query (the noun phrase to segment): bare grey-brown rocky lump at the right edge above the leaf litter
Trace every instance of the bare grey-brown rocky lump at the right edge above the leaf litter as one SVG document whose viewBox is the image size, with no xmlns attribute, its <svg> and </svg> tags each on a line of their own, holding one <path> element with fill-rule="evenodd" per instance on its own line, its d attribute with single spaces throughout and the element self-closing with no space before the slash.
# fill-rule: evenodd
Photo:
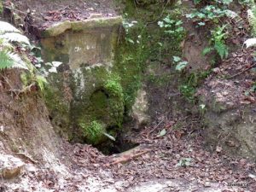
<svg viewBox="0 0 256 192">
<path fill-rule="evenodd" d="M 242 116 L 241 116 L 242 113 Z M 208 106 L 204 114 L 208 145 L 219 145 L 225 152 L 255 160 L 256 115 L 250 106 L 228 109 L 221 113 Z"/>
</svg>

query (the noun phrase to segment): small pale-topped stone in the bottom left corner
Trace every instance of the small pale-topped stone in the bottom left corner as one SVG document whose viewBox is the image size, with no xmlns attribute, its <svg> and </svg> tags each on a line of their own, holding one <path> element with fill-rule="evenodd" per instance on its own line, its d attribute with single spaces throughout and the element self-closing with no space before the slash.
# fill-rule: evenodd
<svg viewBox="0 0 256 192">
<path fill-rule="evenodd" d="M 12 155 L 0 155 L 0 174 L 3 178 L 10 179 L 18 177 L 24 166 L 25 163 Z"/>
</svg>

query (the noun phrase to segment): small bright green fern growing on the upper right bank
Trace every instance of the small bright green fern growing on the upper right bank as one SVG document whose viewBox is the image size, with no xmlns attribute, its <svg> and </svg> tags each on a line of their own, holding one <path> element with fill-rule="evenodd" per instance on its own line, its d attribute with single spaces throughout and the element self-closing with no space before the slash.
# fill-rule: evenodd
<svg viewBox="0 0 256 192">
<path fill-rule="evenodd" d="M 211 31 L 212 38 L 210 40 L 211 47 L 207 47 L 203 50 L 203 55 L 207 55 L 212 50 L 215 50 L 221 59 L 225 59 L 229 55 L 229 50 L 225 44 L 225 39 L 228 38 L 228 33 L 225 32 L 226 26 L 218 26 Z"/>
</svg>

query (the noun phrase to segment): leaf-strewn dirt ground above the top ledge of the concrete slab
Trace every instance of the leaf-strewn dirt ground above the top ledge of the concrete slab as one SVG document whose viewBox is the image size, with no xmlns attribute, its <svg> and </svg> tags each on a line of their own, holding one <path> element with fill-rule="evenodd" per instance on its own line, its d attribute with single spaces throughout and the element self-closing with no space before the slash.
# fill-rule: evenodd
<svg viewBox="0 0 256 192">
<path fill-rule="evenodd" d="M 13 0 L 5 3 L 5 7 L 16 12 L 21 20 L 38 28 L 63 20 L 86 20 L 101 15 L 112 17 L 116 15 L 114 6 L 110 0 L 55 0 L 47 3 L 44 0 Z"/>
</svg>

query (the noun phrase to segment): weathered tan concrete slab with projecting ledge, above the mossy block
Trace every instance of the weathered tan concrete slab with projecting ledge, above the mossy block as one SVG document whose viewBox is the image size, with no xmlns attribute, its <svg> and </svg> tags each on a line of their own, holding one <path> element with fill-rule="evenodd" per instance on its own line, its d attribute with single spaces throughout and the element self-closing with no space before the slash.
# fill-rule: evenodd
<svg viewBox="0 0 256 192">
<path fill-rule="evenodd" d="M 62 61 L 71 69 L 80 65 L 109 64 L 122 17 L 63 21 L 50 26 L 41 39 L 46 61 Z"/>
</svg>

